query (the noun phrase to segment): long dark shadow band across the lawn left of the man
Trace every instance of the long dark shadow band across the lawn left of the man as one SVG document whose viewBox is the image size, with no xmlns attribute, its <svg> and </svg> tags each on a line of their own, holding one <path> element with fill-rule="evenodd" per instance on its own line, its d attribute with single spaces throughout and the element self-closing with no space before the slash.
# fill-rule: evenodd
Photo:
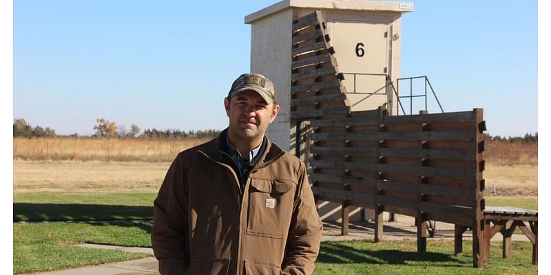
<svg viewBox="0 0 551 275">
<path fill-rule="evenodd" d="M 150 221 L 152 206 L 13 203 L 13 221 Z"/>
</svg>

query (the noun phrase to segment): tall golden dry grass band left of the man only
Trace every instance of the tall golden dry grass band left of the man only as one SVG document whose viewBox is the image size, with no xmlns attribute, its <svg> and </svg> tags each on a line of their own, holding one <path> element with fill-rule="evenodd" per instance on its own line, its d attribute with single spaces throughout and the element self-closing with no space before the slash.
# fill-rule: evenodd
<svg viewBox="0 0 551 275">
<path fill-rule="evenodd" d="M 186 148 L 208 139 L 14 137 L 13 158 L 114 162 L 171 162 Z"/>
</svg>

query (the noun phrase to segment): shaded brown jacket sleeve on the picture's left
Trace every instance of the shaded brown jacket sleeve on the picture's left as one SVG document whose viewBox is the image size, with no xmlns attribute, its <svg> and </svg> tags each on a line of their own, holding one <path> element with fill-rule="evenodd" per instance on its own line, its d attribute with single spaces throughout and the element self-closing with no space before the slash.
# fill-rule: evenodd
<svg viewBox="0 0 551 275">
<path fill-rule="evenodd" d="M 153 207 L 152 248 L 160 274 L 185 274 L 189 266 L 187 186 L 180 155 L 174 159 Z"/>
</svg>

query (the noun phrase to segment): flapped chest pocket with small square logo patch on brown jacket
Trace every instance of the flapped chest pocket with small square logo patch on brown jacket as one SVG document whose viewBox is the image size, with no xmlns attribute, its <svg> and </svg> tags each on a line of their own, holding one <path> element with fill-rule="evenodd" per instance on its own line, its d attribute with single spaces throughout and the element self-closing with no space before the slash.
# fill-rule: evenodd
<svg viewBox="0 0 551 275">
<path fill-rule="evenodd" d="M 287 239 L 295 188 L 293 181 L 251 179 L 247 234 Z"/>
</svg>

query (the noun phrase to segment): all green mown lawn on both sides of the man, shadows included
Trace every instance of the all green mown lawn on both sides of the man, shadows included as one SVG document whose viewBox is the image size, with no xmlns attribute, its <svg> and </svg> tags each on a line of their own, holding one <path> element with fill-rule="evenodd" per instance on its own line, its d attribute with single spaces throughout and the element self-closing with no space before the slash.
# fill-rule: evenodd
<svg viewBox="0 0 551 275">
<path fill-rule="evenodd" d="M 57 221 L 14 223 L 14 272 L 60 270 L 149 256 L 70 245 L 150 247 L 152 223 L 128 220 L 151 220 L 155 197 L 154 193 L 14 194 L 14 221 Z M 486 203 L 537 210 L 537 198 L 490 197 Z M 490 264 L 484 271 L 472 268 L 471 245 L 464 241 L 464 257 L 456 258 L 453 241 L 447 240 L 428 239 L 426 253 L 416 252 L 415 241 L 322 243 L 315 274 L 537 274 L 537 266 L 531 265 L 530 243 L 514 242 L 511 260 L 501 259 L 501 243 L 492 243 Z"/>
</svg>

